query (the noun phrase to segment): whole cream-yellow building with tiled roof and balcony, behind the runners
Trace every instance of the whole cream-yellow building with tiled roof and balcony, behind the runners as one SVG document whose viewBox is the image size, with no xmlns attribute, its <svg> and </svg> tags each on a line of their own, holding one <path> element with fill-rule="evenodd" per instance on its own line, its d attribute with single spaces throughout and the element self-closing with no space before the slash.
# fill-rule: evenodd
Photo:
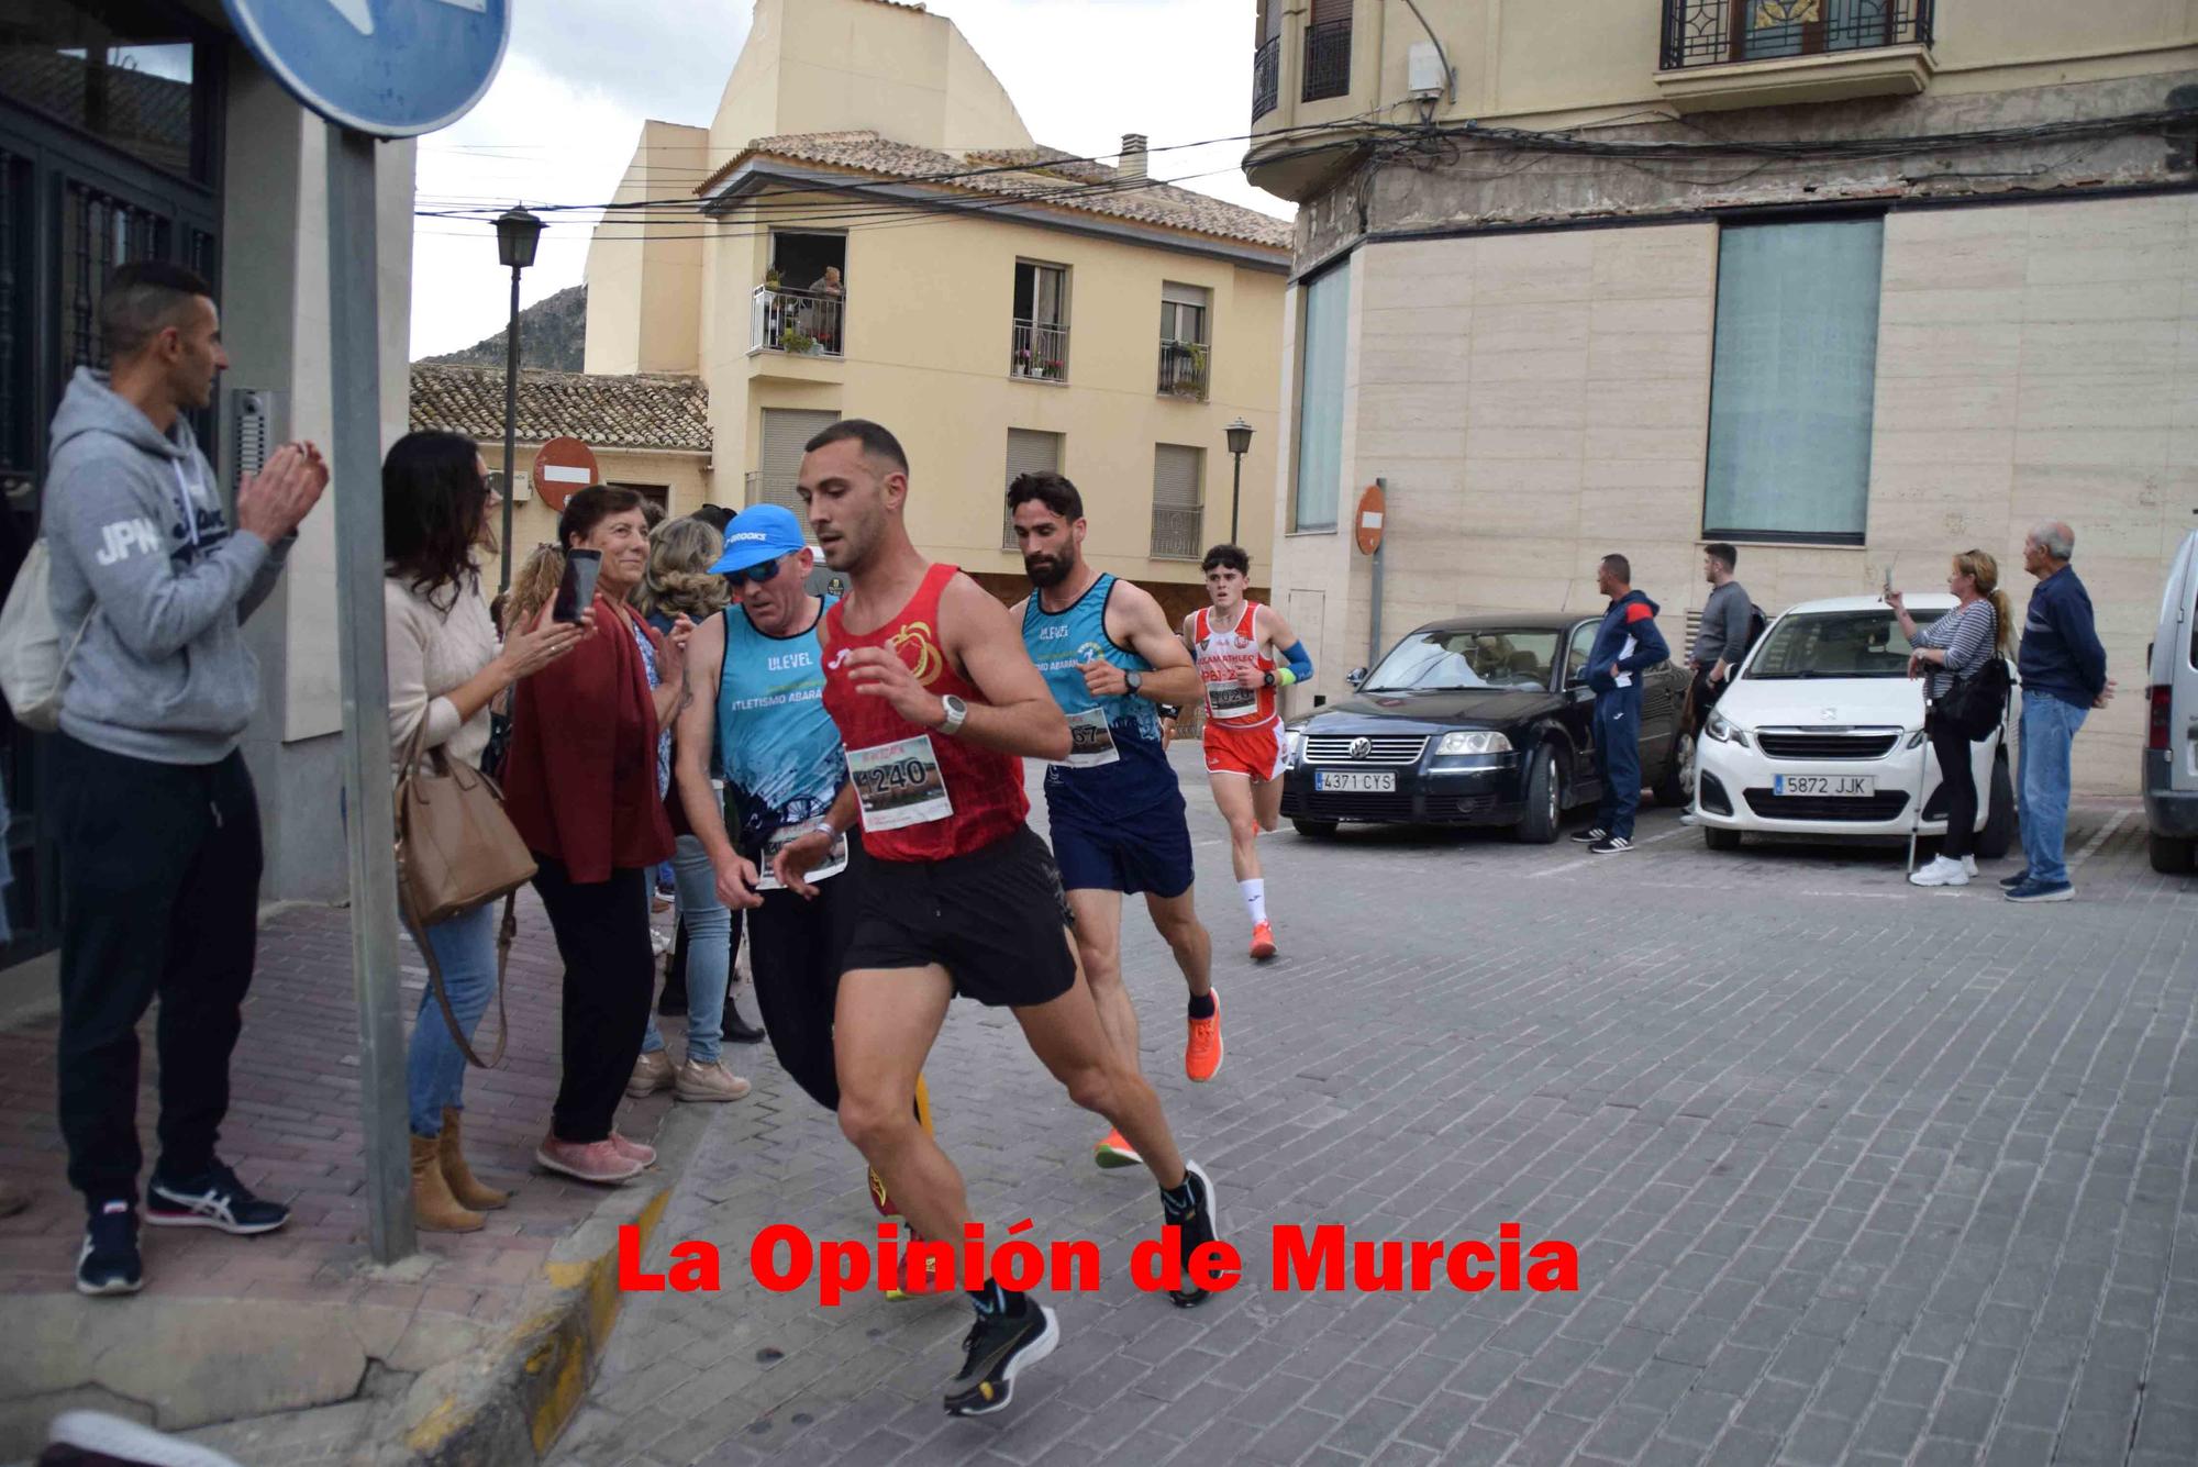
<svg viewBox="0 0 2198 1467">
<path fill-rule="evenodd" d="M 717 119 L 648 123 L 615 200 L 587 371 L 699 378 L 719 503 L 798 507 L 802 444 L 875 417 L 928 556 L 1020 597 L 1002 492 L 1057 468 L 1090 558 L 1183 608 L 1231 534 L 1242 417 L 1266 580 L 1290 226 L 1150 178 L 1139 136 L 1117 163 L 1037 145 L 950 20 L 758 0 Z"/>
</svg>

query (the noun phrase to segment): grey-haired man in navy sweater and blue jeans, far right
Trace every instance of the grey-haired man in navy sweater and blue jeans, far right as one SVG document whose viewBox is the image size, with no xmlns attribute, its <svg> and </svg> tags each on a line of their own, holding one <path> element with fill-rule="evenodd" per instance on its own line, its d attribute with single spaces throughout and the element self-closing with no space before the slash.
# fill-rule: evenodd
<svg viewBox="0 0 2198 1467">
<path fill-rule="evenodd" d="M 2062 837 L 2068 832 L 2068 747 L 2084 716 L 2106 707 L 2114 685 L 2092 626 L 2090 593 L 2068 569 L 2075 531 L 2040 525 L 2022 542 L 2022 569 L 2038 578 L 2022 617 L 2022 854 L 2027 867 L 2005 878 L 2011 903 L 2064 903 L 2075 896 Z"/>
</svg>

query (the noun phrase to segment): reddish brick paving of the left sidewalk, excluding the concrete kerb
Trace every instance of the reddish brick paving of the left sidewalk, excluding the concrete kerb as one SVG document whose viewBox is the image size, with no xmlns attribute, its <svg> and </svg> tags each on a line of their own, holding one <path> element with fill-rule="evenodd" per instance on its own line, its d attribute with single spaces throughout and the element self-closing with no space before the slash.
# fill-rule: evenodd
<svg viewBox="0 0 2198 1467">
<path fill-rule="evenodd" d="M 352 990 L 349 918 L 292 907 L 262 927 L 259 962 L 244 1004 L 222 1157 L 246 1186 L 292 1203 L 281 1232 L 233 1239 L 207 1228 L 147 1228 L 145 1291 L 92 1309 L 149 1309 L 163 1298 L 281 1298 L 328 1304 L 393 1304 L 501 1322 L 539 1276 L 552 1245 L 593 1212 L 600 1188 L 532 1171 L 558 1083 L 558 975 L 550 922 L 521 898 L 521 938 L 510 964 L 512 1041 L 495 1072 L 466 1076 L 466 1146 L 512 1206 L 473 1234 L 420 1234 L 435 1263 L 415 1283 L 374 1278 L 367 1263 L 365 1166 L 358 1113 L 358 1008 Z M 404 942 L 407 1028 L 426 968 Z M 440 1023 L 437 1015 L 429 1017 Z M 679 1021 L 668 1041 L 679 1050 Z M 495 1015 L 484 1021 L 490 1041 Z M 84 1203 L 64 1177 L 55 1124 L 53 1021 L 0 1032 L 0 1177 L 33 1206 L 0 1219 L 0 1296 L 70 1294 Z M 138 1133 L 147 1175 L 158 1142 L 158 1067 L 152 1015 L 141 1026 Z M 734 1050 L 734 1063 L 741 1052 Z M 655 1133 L 668 1096 L 629 1100 L 620 1127 Z M 145 1177 L 141 1177 L 143 1186 Z"/>
</svg>

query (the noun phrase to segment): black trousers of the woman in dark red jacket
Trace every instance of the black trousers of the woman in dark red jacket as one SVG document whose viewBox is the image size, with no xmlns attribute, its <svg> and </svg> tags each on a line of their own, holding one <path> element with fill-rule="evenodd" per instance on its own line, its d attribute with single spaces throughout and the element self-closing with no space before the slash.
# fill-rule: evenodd
<svg viewBox="0 0 2198 1467">
<path fill-rule="evenodd" d="M 565 1078 L 550 1111 L 560 1142 L 611 1135 L 618 1100 L 648 1032 L 657 955 L 648 947 L 655 867 L 618 865 L 609 881 L 576 883 L 556 856 L 534 852 L 534 889 L 565 960 Z"/>
</svg>

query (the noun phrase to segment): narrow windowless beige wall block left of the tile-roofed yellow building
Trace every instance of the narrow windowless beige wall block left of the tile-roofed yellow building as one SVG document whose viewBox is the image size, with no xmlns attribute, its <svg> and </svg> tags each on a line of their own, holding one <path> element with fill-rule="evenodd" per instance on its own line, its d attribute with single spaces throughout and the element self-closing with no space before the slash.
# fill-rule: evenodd
<svg viewBox="0 0 2198 1467">
<path fill-rule="evenodd" d="M 710 158 L 710 130 L 642 123 L 613 204 L 684 200 Z M 701 231 L 681 206 L 611 213 L 587 246 L 585 371 L 697 369 Z"/>
</svg>

